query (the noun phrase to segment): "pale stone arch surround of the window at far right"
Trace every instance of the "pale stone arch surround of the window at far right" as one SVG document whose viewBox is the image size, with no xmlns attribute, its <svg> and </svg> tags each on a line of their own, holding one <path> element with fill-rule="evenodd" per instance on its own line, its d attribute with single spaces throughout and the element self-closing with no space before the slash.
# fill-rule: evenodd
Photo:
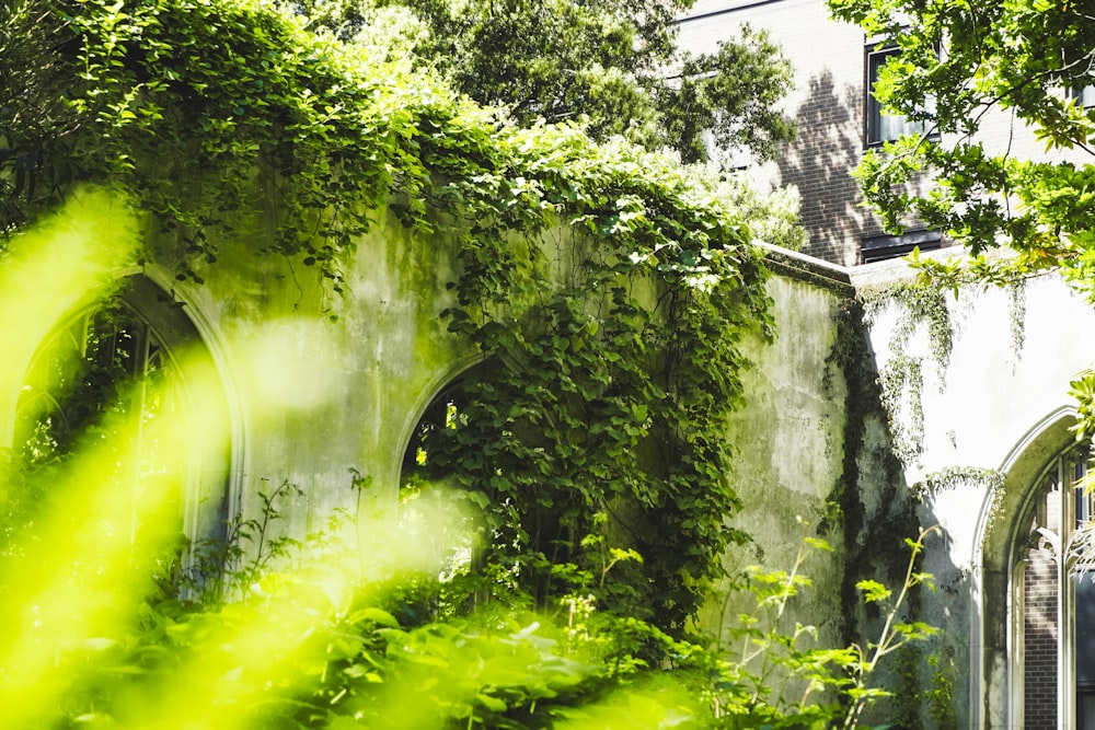
<svg viewBox="0 0 1095 730">
<path fill-rule="evenodd" d="M 975 727 L 1003 728 L 1025 723 L 1026 642 L 1031 636 L 1025 621 L 1028 603 L 1033 600 L 1027 593 L 1034 586 L 1027 569 L 1044 571 L 1049 565 L 1045 559 L 1031 559 L 1035 552 L 1051 549 L 1046 542 L 1049 538 L 1035 529 L 1045 521 L 1040 512 L 1046 509 L 1047 473 L 1058 467 L 1063 454 L 1075 447 L 1070 430 L 1074 424 L 1074 408 L 1062 406 L 1031 428 L 1001 464 L 1004 475 L 1001 493 L 987 495 L 981 509 L 975 560 L 980 581 L 972 596 L 973 617 L 978 624 L 973 637 L 980 639 L 979 651 L 973 652 L 978 664 L 973 668 L 973 677 L 980 687 L 973 687 L 972 696 L 980 697 L 981 717 L 975 720 Z M 1065 505 L 1070 498 L 1063 495 L 1061 503 Z M 1057 519 L 1068 525 L 1070 515 L 1065 507 Z M 1057 630 L 1053 641 L 1058 647 L 1053 657 L 1058 667 L 1054 677 L 1062 672 L 1072 675 L 1069 667 L 1074 625 L 1070 582 L 1058 584 L 1064 587 L 1063 594 L 1054 593 L 1050 599 L 1059 609 L 1053 616 Z M 1054 711 L 1058 718 L 1052 720 L 1052 727 L 1073 727 L 1074 698 L 1069 683 L 1060 683 L 1057 694 Z M 1058 726 L 1058 721 L 1065 725 Z"/>
</svg>

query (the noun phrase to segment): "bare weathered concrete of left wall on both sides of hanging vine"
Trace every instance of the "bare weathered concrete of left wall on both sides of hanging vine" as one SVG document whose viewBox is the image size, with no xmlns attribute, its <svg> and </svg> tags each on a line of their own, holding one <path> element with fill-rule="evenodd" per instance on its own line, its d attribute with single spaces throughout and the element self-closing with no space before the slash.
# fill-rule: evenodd
<svg viewBox="0 0 1095 730">
<path fill-rule="evenodd" d="M 346 266 L 344 298 L 299 262 L 223 250 L 199 270 L 203 285 L 174 283 L 168 268 L 148 273 L 186 302 L 217 361 L 232 404 L 231 488 L 242 515 L 258 517 L 258 490 L 283 480 L 304 494 L 284 525 L 298 536 L 335 509 L 359 514 L 378 500 L 390 503 L 423 409 L 479 361 L 440 315 L 456 278 L 443 234 L 427 240 L 382 220 Z M 892 511 L 895 489 L 907 500 L 907 487 L 887 472 L 891 449 L 877 397 L 848 382 L 864 373 L 873 382 L 876 372 L 865 331 L 848 313 L 855 293 L 848 270 L 789 253 L 770 262 L 775 339 L 748 345 L 754 367 L 745 374 L 747 406 L 728 430 L 744 503 L 733 519 L 754 542 L 728 555 L 726 567 L 731 575 L 749 564 L 789 569 L 803 537 L 821 534 L 835 551 L 807 558 L 802 571 L 814 586 L 787 619 L 818 626 L 819 646 L 839 646 L 857 630 L 844 601 L 849 566 L 861 571 L 854 578 L 865 577 L 874 520 Z M 849 316 L 854 322 L 842 325 Z M 857 368 L 841 361 L 850 347 L 843 357 L 858 358 Z M 875 399 L 856 406 L 864 397 Z M 850 424 L 850 415 L 862 422 Z M 360 494 L 350 468 L 367 480 Z M 900 544 L 912 533 L 890 537 Z M 742 596 L 716 590 L 702 623 L 725 638 L 744 609 Z"/>
</svg>

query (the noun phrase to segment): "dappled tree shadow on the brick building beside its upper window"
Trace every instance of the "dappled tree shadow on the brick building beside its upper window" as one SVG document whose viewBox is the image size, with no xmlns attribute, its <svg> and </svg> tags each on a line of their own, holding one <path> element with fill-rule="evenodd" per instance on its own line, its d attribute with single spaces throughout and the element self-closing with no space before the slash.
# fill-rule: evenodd
<svg viewBox="0 0 1095 730">
<path fill-rule="evenodd" d="M 783 185 L 802 194 L 802 223 L 809 240 L 804 253 L 837 264 L 857 263 L 864 211 L 852 170 L 863 151 L 860 91 L 845 84 L 838 94 L 832 73 L 810 79 L 810 93 L 795 114 L 798 137 L 779 160 Z"/>
</svg>

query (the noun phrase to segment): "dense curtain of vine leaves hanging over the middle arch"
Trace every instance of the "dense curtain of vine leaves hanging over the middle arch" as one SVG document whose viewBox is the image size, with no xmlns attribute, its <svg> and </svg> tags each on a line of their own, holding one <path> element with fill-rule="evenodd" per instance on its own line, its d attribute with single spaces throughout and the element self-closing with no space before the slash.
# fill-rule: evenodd
<svg viewBox="0 0 1095 730">
<path fill-rule="evenodd" d="M 745 537 L 725 519 L 739 505 L 725 426 L 742 399 L 737 347 L 766 331 L 766 296 L 739 228 L 715 209 L 680 227 L 666 213 L 688 188 L 642 190 L 627 173 L 657 160 L 613 153 L 586 179 L 539 164 L 526 195 L 562 211 L 541 223 L 548 246 L 468 216 L 447 315 L 492 360 L 454 428 L 429 431 L 426 471 L 485 496 L 492 561 L 537 595 L 567 588 L 561 563 L 597 572 L 584 545 L 598 535 L 644 557 L 595 587 L 604 605 L 680 630 Z"/>
</svg>

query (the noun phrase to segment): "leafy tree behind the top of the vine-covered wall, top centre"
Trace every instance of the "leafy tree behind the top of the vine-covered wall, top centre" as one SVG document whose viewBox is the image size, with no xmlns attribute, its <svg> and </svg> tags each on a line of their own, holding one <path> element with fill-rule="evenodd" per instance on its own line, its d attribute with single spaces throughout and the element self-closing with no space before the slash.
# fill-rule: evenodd
<svg viewBox="0 0 1095 730">
<path fill-rule="evenodd" d="M 367 46 L 395 42 L 462 93 L 525 126 L 583 119 L 597 139 L 624 135 L 706 160 L 704 134 L 760 158 L 794 135 L 775 103 L 791 67 L 745 28 L 715 54 L 677 48 L 673 20 L 694 0 L 308 0 L 313 26 Z M 394 31 L 394 33 L 393 33 Z M 387 45 L 387 44 L 385 44 Z"/>
</svg>

